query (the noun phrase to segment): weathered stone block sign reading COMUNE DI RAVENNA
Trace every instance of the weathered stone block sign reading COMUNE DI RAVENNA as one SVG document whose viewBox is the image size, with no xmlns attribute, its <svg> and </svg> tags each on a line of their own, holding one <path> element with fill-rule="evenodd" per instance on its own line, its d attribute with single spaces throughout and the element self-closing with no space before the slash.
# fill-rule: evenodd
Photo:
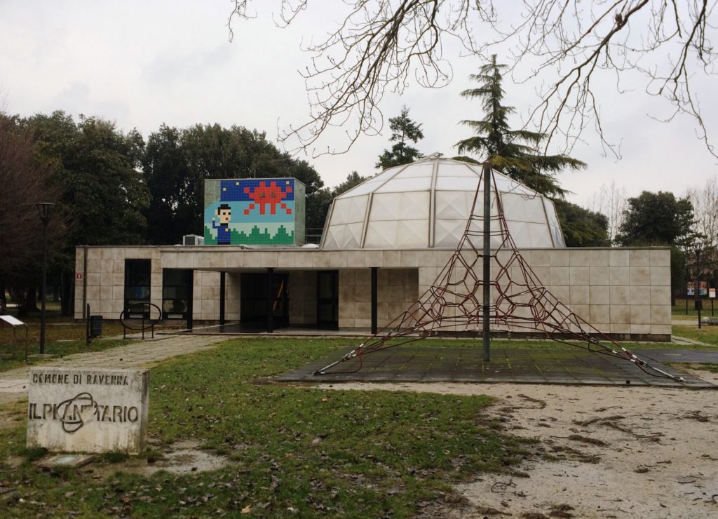
<svg viewBox="0 0 718 519">
<path fill-rule="evenodd" d="M 147 370 L 30 369 L 27 446 L 54 452 L 144 450 Z"/>
</svg>

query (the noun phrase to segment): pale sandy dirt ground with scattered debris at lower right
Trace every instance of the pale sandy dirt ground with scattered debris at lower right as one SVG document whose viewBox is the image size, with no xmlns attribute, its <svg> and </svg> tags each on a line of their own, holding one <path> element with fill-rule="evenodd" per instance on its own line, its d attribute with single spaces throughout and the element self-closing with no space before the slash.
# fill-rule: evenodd
<svg viewBox="0 0 718 519">
<path fill-rule="evenodd" d="M 718 383 L 717 374 L 695 375 Z M 482 474 L 477 482 L 457 487 L 470 505 L 450 505 L 432 515 L 718 516 L 716 390 L 446 383 L 334 388 L 494 396 L 497 403 L 490 410 L 507 431 L 539 439 L 552 458 L 528 460 L 513 475 Z"/>
</svg>

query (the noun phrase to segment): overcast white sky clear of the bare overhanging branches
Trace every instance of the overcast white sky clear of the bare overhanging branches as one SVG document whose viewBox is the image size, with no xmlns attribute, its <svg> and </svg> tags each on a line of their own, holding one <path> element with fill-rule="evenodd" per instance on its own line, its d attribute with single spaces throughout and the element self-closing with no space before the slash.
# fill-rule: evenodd
<svg viewBox="0 0 718 519">
<path fill-rule="evenodd" d="M 324 34 L 337 16 L 327 11 L 329 2 L 314 2 L 314 10 L 289 29 L 278 29 L 269 9 L 277 3 L 256 2 L 266 11 L 237 21 L 230 43 L 227 0 L 0 0 L 0 107 L 22 116 L 54 110 L 102 116 L 125 131 L 138 128 L 145 137 L 162 123 L 216 122 L 266 131 L 275 140 L 278 128 L 307 119 L 304 80 L 297 73 L 309 64 L 299 49 L 302 37 Z M 401 97 L 388 95 L 381 108 L 391 117 L 406 104 L 411 118 L 424 125 L 425 138 L 417 147 L 424 154 L 453 156 L 452 146 L 470 136 L 458 121 L 481 116 L 477 102 L 459 95 L 472 87 L 467 76 L 480 64 L 476 57 L 455 57 L 449 86 L 411 85 Z M 699 95 L 718 142 L 718 103 L 709 85 L 704 81 Z M 506 103 L 520 113 L 535 102 L 525 88 L 508 82 L 504 87 Z M 661 116 L 670 109 L 643 88 L 637 84 L 635 91 L 618 94 L 612 83 L 597 85 L 605 134 L 620 141 L 623 159 L 603 157 L 597 136 L 585 133 L 585 143 L 572 155 L 587 162 L 588 170 L 560 177 L 561 185 L 575 193 L 569 200 L 587 205 L 602 184 L 612 181 L 628 195 L 642 190 L 683 195 L 686 187 L 718 172 L 716 159 L 696 139 L 694 121 L 653 121 L 648 113 Z M 333 186 L 353 170 L 376 173 L 374 164 L 389 145 L 388 134 L 386 128 L 383 136 L 361 137 L 340 156 L 302 158 Z M 337 135 L 321 144 L 344 145 Z"/>
</svg>

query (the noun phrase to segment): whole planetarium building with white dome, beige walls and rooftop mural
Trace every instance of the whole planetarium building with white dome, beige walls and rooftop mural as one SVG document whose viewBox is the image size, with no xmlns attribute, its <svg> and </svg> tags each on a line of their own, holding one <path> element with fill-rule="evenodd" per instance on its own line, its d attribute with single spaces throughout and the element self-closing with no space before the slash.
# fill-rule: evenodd
<svg viewBox="0 0 718 519">
<path fill-rule="evenodd" d="M 441 156 L 387 169 L 333 201 L 318 248 L 304 245 L 296 179 L 205 181 L 203 240 L 77 248 L 75 317 L 151 303 L 194 329 L 381 329 L 434 284 L 472 208 L 482 214 L 481 172 Z M 556 298 L 615 337 L 670 338 L 668 248 L 566 248 L 551 200 L 493 178 L 491 214 Z"/>
</svg>

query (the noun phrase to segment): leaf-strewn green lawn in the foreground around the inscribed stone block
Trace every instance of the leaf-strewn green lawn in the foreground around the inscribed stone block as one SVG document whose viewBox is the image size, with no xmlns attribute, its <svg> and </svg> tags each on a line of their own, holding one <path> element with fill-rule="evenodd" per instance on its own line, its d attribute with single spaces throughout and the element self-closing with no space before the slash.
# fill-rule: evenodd
<svg viewBox="0 0 718 519">
<path fill-rule="evenodd" d="M 25 406 L 14 406 L 17 426 L 0 429 L 0 491 L 17 490 L 2 502 L 4 514 L 407 517 L 450 495 L 453 482 L 510 470 L 528 449 L 502 432 L 488 397 L 269 380 L 346 344 L 240 339 L 153 368 L 149 436 L 192 439 L 230 459 L 214 472 L 44 472 L 30 461 L 41 453 L 24 448 Z"/>
</svg>

